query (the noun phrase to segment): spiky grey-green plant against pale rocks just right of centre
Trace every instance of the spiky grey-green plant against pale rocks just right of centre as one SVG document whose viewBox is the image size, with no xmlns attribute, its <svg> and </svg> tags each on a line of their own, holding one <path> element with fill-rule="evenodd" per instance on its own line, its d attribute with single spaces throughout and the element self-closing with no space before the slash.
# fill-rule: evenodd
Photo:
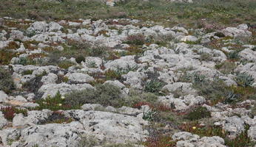
<svg viewBox="0 0 256 147">
<path fill-rule="evenodd" d="M 159 93 L 161 88 L 166 85 L 165 82 L 162 82 L 158 79 L 150 80 L 149 82 L 146 82 L 145 84 L 145 91 L 149 93 Z"/>
</svg>

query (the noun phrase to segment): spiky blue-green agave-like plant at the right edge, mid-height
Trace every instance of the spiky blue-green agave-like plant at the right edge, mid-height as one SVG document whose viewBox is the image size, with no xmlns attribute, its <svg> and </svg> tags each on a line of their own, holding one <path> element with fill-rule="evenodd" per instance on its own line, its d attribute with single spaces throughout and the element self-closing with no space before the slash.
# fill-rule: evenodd
<svg viewBox="0 0 256 147">
<path fill-rule="evenodd" d="M 250 87 L 252 86 L 255 79 L 252 77 L 252 75 L 249 75 L 248 73 L 243 72 L 243 73 L 238 73 L 238 75 L 235 78 L 235 81 L 240 86 Z"/>
</svg>

